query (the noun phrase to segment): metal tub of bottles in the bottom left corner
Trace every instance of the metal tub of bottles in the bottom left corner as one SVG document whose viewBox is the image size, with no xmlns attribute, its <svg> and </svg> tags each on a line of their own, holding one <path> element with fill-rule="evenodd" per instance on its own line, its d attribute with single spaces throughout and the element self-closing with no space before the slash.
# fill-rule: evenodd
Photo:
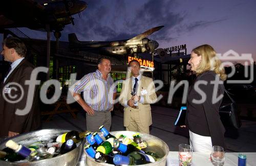
<svg viewBox="0 0 256 166">
<path fill-rule="evenodd" d="M 60 130 L 60 129 L 44 129 L 44 130 L 37 130 L 37 131 L 31 131 L 24 134 L 19 134 L 15 137 L 12 137 L 11 140 L 19 143 L 24 140 L 30 140 L 33 138 L 38 138 L 37 140 L 49 140 L 50 138 L 60 135 L 62 133 L 69 132 L 69 130 Z M 7 140 L 8 141 L 8 140 Z M 6 148 L 5 143 L 7 141 L 4 141 L 0 144 L 0 149 Z M 77 148 L 73 149 L 72 151 L 62 154 L 53 158 L 39 160 L 39 161 L 32 161 L 32 162 L 25 162 L 25 163 L 18 163 L 18 162 L 7 162 L 0 160 L 0 165 L 37 165 L 37 166 L 52 166 L 52 165 L 71 165 L 74 166 L 77 164 L 77 161 L 80 157 L 82 150 L 82 142 L 77 144 Z"/>
</svg>

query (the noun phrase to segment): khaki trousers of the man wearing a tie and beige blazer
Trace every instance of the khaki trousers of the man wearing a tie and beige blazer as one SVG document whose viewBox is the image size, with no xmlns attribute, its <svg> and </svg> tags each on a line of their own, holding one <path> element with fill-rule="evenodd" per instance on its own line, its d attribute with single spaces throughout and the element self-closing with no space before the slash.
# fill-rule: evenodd
<svg viewBox="0 0 256 166">
<path fill-rule="evenodd" d="M 131 108 L 131 118 L 127 131 L 144 132 L 150 134 L 150 126 L 143 127 L 140 121 L 139 109 Z"/>
</svg>

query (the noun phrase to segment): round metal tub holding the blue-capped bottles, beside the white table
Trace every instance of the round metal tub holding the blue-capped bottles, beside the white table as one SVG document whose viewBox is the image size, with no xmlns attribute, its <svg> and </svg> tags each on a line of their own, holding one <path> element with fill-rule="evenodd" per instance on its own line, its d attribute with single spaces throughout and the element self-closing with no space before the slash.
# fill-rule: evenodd
<svg viewBox="0 0 256 166">
<path fill-rule="evenodd" d="M 112 135 L 116 135 L 117 133 L 122 133 L 126 136 L 130 136 L 137 133 L 134 131 L 112 131 L 110 132 Z M 139 132 L 140 133 L 140 132 Z M 100 134 L 100 136 L 102 136 L 102 134 Z M 162 157 L 160 160 L 156 161 L 156 162 L 152 162 L 152 163 L 148 163 L 148 164 L 143 164 L 143 165 L 158 165 L 158 166 L 165 166 L 166 163 L 166 157 L 169 153 L 169 148 L 167 146 L 167 144 L 162 141 L 161 139 L 159 139 L 156 136 L 150 135 L 150 134 L 146 134 L 146 133 L 140 133 L 140 136 L 142 137 L 142 139 L 144 141 L 146 141 L 147 145 L 148 145 L 148 150 L 152 151 L 152 152 L 156 152 L 160 157 Z M 103 139 L 103 138 L 102 138 Z M 105 140 L 105 139 L 104 139 Z M 95 161 L 92 157 L 88 156 L 87 152 L 83 151 L 86 154 L 86 165 L 88 166 L 97 166 L 97 165 L 113 165 L 113 164 L 108 164 L 108 163 L 102 163 L 102 162 L 97 162 Z"/>
</svg>

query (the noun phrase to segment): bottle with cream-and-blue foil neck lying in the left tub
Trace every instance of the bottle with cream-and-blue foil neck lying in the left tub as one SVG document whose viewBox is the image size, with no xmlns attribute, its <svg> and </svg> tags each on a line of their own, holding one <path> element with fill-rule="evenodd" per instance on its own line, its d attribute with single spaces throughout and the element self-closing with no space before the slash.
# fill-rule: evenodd
<svg viewBox="0 0 256 166">
<path fill-rule="evenodd" d="M 52 157 L 46 149 L 39 148 L 36 151 L 31 151 L 30 149 L 26 148 L 25 146 L 18 145 L 12 140 L 9 140 L 6 145 L 8 148 L 13 149 L 16 153 L 22 155 L 23 157 L 27 158 L 29 161 L 34 160 L 42 160 Z"/>
</svg>

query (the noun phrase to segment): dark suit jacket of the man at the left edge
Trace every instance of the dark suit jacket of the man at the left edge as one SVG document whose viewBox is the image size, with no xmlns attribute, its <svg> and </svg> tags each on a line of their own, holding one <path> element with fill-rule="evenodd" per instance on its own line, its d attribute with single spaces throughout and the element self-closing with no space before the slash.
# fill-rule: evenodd
<svg viewBox="0 0 256 166">
<path fill-rule="evenodd" d="M 26 80 L 30 80 L 30 75 L 34 66 L 30 64 L 27 60 L 23 60 L 18 64 L 18 66 L 12 71 L 12 73 L 8 76 L 5 83 L 2 82 L 0 85 L 0 122 L 1 122 L 1 130 L 0 137 L 8 136 L 8 131 L 23 133 L 31 130 L 35 130 L 40 126 L 40 111 L 38 106 L 38 88 L 35 87 L 34 95 L 29 98 L 29 101 L 32 101 L 32 107 L 28 111 L 28 114 L 20 116 L 16 115 L 15 111 L 18 109 L 23 110 L 27 104 L 27 98 L 29 93 L 29 86 L 25 85 Z M 6 101 L 3 97 L 3 90 L 7 88 L 7 84 L 13 82 L 23 87 L 24 96 L 20 101 L 16 103 L 10 103 Z M 15 85 L 10 85 L 9 88 L 15 87 Z M 20 88 L 16 87 L 16 90 L 11 91 L 11 96 L 15 96 L 19 98 L 22 94 Z M 5 94 L 6 98 L 9 100 L 13 100 Z"/>
</svg>

